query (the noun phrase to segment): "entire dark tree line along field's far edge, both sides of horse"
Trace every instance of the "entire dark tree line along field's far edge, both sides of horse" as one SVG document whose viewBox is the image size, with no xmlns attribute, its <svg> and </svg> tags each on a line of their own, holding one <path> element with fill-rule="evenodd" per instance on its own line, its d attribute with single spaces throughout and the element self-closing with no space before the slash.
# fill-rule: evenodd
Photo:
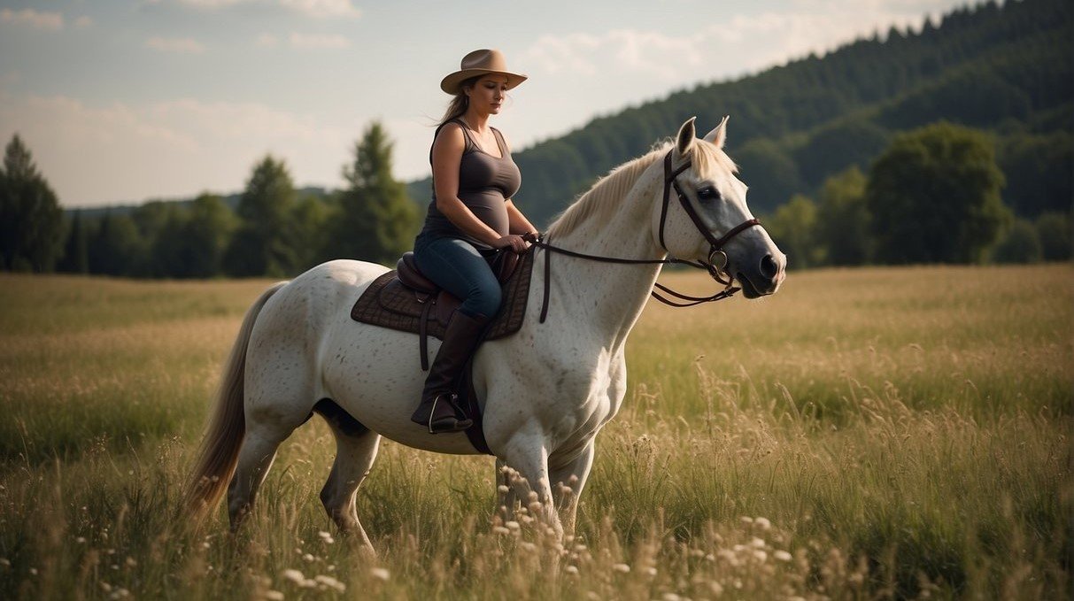
<svg viewBox="0 0 1074 601">
<path fill-rule="evenodd" d="M 1063 261 L 1069 211 L 1016 217 L 987 133 L 937 122 L 897 134 L 862 172 L 852 165 L 814 196 L 761 216 L 795 268 Z M 2 267 L 129 277 L 290 277 L 338 258 L 384 264 L 408 250 L 419 210 L 392 175 L 391 142 L 373 123 L 345 165 L 347 188 L 295 191 L 282 161 L 252 168 L 235 208 L 215 194 L 151 202 L 64 222 L 56 194 L 16 135 L 0 172 Z"/>
</svg>

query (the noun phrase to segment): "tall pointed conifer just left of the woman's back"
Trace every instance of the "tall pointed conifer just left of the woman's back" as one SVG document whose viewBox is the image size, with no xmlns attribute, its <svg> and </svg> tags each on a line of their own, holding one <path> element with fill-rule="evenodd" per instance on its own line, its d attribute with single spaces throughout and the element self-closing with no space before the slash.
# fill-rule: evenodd
<svg viewBox="0 0 1074 601">
<path fill-rule="evenodd" d="M 348 187 L 331 220 L 328 254 L 393 264 L 412 247 L 420 223 L 406 187 L 392 176 L 392 143 L 380 122 L 354 144 L 354 160 L 343 176 Z"/>
</svg>

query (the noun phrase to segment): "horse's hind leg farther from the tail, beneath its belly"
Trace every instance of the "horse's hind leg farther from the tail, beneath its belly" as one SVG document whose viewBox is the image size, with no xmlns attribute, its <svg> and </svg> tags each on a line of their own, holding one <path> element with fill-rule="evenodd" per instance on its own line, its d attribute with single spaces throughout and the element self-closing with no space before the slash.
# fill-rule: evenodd
<svg viewBox="0 0 1074 601">
<path fill-rule="evenodd" d="M 314 410 L 329 423 L 336 440 L 336 458 L 332 464 L 332 473 L 321 489 L 321 503 L 339 530 L 353 536 L 372 551 L 369 537 L 358 521 L 354 501 L 359 485 L 377 458 L 380 435 L 363 426 L 331 400 L 321 400 Z"/>
</svg>

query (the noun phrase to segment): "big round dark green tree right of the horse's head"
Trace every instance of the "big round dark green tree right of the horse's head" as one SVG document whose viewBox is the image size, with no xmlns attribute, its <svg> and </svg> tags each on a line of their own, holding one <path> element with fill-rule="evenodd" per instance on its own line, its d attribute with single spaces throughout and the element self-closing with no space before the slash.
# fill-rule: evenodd
<svg viewBox="0 0 1074 601">
<path fill-rule="evenodd" d="M 950 123 L 900 134 L 869 174 L 866 202 L 876 259 L 886 263 L 975 263 L 1010 211 L 987 136 Z"/>
</svg>

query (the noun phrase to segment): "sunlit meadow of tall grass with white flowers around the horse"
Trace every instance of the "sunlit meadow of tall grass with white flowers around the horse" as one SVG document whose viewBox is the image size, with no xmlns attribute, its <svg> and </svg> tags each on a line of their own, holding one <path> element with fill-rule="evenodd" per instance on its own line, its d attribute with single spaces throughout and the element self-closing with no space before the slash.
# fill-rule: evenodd
<svg viewBox="0 0 1074 601">
<path fill-rule="evenodd" d="M 1071 596 L 1070 265 L 794 273 L 764 300 L 651 305 L 576 539 L 494 526 L 491 459 L 386 443 L 359 493 L 377 557 L 320 508 L 318 420 L 237 537 L 222 508 L 201 531 L 177 517 L 267 283 L 0 275 L 0 598 Z"/>
</svg>

